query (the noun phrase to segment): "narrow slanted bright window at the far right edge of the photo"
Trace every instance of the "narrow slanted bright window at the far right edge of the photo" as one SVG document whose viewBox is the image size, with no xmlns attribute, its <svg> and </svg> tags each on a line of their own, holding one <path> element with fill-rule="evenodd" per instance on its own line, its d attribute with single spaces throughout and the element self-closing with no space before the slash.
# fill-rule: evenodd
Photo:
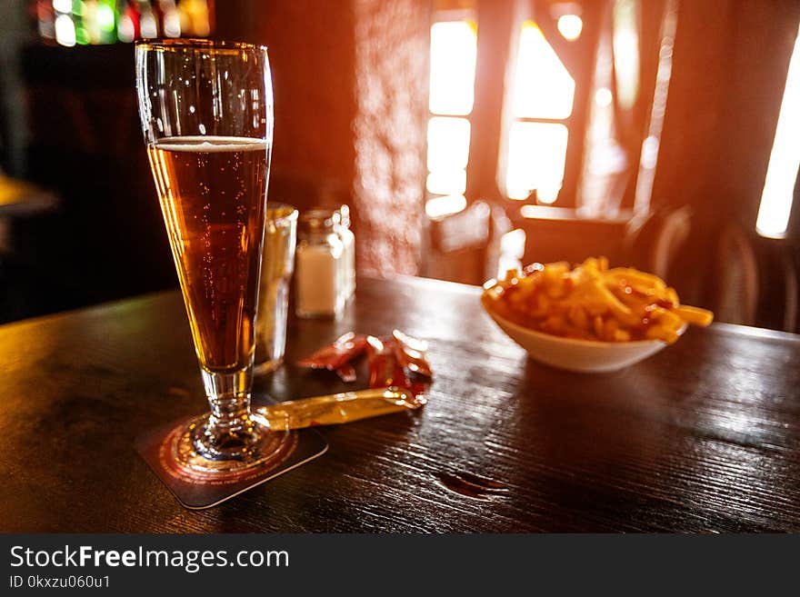
<svg viewBox="0 0 800 597">
<path fill-rule="evenodd" d="M 784 238 L 792 212 L 800 169 L 800 31 L 789 62 L 784 99 L 778 114 L 775 142 L 766 169 L 764 192 L 755 230 L 767 238 Z"/>
</svg>

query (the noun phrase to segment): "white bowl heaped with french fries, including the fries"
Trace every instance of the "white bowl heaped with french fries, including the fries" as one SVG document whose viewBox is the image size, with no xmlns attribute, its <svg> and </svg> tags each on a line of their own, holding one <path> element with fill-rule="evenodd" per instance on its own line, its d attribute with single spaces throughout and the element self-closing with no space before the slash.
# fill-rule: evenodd
<svg viewBox="0 0 800 597">
<path fill-rule="evenodd" d="M 609 268 L 591 257 L 531 264 L 484 284 L 486 313 L 531 358 L 559 369 L 611 372 L 675 343 L 687 325 L 706 326 L 714 313 L 680 303 L 654 274 Z"/>
</svg>

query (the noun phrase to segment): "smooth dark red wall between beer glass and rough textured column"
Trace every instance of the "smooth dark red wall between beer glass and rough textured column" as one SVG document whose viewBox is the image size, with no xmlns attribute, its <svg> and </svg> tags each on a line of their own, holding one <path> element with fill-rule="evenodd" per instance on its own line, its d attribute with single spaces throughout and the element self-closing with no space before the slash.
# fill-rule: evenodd
<svg viewBox="0 0 800 597">
<path fill-rule="evenodd" d="M 354 15 L 345 0 L 228 0 L 220 38 L 269 48 L 275 93 L 270 199 L 309 207 L 352 186 Z"/>
</svg>

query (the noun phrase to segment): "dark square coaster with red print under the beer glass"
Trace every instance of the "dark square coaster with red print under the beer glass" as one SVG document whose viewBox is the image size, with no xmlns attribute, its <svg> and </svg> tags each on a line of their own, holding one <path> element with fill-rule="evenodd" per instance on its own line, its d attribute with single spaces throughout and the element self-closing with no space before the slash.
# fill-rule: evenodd
<svg viewBox="0 0 800 597">
<path fill-rule="evenodd" d="M 270 432 L 275 436 L 265 463 L 244 471 L 200 472 L 175 462 L 175 451 L 179 449 L 185 426 L 194 419 L 196 417 L 170 423 L 144 433 L 135 440 L 136 452 L 145 459 L 145 463 L 178 502 L 190 510 L 203 510 L 225 502 L 314 460 L 328 449 L 322 435 L 313 430 L 275 431 Z"/>
</svg>

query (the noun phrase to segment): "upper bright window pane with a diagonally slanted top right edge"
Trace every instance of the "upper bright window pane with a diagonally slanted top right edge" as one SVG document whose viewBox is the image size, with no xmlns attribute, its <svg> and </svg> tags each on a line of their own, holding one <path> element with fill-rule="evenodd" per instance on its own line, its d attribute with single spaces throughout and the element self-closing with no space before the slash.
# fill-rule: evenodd
<svg viewBox="0 0 800 597">
<path fill-rule="evenodd" d="M 568 118 L 575 79 L 547 43 L 538 25 L 528 21 L 519 38 L 514 84 L 514 114 L 522 118 Z"/>
</svg>

